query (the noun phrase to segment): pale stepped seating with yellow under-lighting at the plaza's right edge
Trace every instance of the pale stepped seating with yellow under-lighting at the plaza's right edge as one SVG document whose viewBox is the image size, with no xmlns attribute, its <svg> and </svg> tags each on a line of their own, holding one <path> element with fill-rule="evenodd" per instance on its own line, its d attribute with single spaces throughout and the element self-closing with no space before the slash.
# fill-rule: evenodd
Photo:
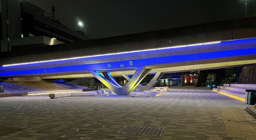
<svg viewBox="0 0 256 140">
<path fill-rule="evenodd" d="M 246 89 L 256 90 L 256 84 L 223 84 L 223 86 L 213 88 L 215 91 L 223 92 L 242 99 L 245 99 Z"/>
</svg>

